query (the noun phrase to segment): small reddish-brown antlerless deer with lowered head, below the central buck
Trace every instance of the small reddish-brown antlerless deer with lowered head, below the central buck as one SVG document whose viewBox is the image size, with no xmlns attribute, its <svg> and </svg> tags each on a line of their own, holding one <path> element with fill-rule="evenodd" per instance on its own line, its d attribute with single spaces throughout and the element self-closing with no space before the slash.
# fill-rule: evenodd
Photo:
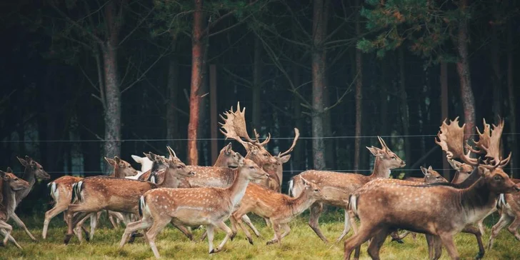
<svg viewBox="0 0 520 260">
<path fill-rule="evenodd" d="M 271 222 L 274 238 L 268 241 L 267 244 L 281 243 L 281 239 L 291 231 L 289 227 L 291 219 L 309 209 L 309 206 L 316 200 L 326 199 L 326 196 L 321 194 L 321 190 L 316 184 L 305 179 L 302 179 L 302 181 L 304 181 L 304 191 L 297 198 L 271 191 L 259 184 L 249 184 L 244 198 L 240 201 L 239 209 L 236 209 L 231 214 L 231 230 L 233 231 L 231 239 L 236 235 L 236 224 L 239 224 L 242 231 L 246 234 L 249 243 L 253 244 L 251 234 L 249 234 L 249 231 L 241 222 L 242 216 L 253 212 Z M 284 234 L 280 233 L 280 229 L 284 230 Z"/>
</svg>

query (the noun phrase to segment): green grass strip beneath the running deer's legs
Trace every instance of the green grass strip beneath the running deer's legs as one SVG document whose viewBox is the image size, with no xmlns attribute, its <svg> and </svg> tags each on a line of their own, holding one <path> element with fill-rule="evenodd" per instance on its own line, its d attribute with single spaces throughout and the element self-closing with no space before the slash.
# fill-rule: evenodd
<svg viewBox="0 0 520 260">
<path fill-rule="evenodd" d="M 0 259 L 154 259 L 154 254 L 149 245 L 144 243 L 143 238 L 137 238 L 134 244 L 127 244 L 123 250 L 119 250 L 119 240 L 124 229 L 122 227 L 111 229 L 104 219 L 101 219 L 101 227 L 96 230 L 93 241 L 79 244 L 74 237 L 68 246 L 63 244 L 66 229 L 61 215 L 51 221 L 46 240 L 41 239 L 43 219 L 40 216 L 22 217 L 22 219 L 39 241 L 31 241 L 24 231 L 15 227 L 14 238 L 24 249 L 19 250 L 13 244 L 8 244 L 0 248 Z M 307 214 L 291 222 L 291 234 L 286 236 L 281 246 L 277 244 L 266 246 L 266 241 L 273 236 L 271 228 L 266 227 L 262 219 L 254 216 L 251 216 L 251 219 L 262 234 L 262 237 L 254 238 L 254 245 L 249 244 L 244 234 L 239 233 L 234 241 L 228 241 L 224 251 L 209 255 L 207 241 L 189 241 L 180 231 L 171 226 L 161 232 L 156 244 L 163 259 L 341 259 L 343 256 L 343 242 L 338 244 L 321 242 L 307 225 Z M 488 225 L 491 226 L 491 222 L 497 220 L 497 216 L 494 216 L 494 219 L 490 217 Z M 334 241 L 341 233 L 342 221 L 342 212 L 332 211 L 322 216 L 320 226 L 324 234 Z M 489 226 L 484 244 L 488 241 Z M 194 230 L 197 239 L 201 233 L 202 230 Z M 215 246 L 223 237 L 223 232 L 216 234 Z M 397 244 L 387 239 L 381 249 L 381 258 L 428 259 L 424 236 L 417 236 L 416 241 L 409 236 L 404 241 L 405 244 Z M 474 236 L 459 234 L 456 236 L 456 245 L 461 259 L 473 259 L 476 256 L 478 249 Z M 361 251 L 361 259 L 369 259 L 366 245 Z M 449 259 L 446 251 L 443 251 L 441 259 Z M 486 251 L 484 259 L 520 259 L 520 242 L 504 229 L 496 239 L 494 249 Z"/>
</svg>

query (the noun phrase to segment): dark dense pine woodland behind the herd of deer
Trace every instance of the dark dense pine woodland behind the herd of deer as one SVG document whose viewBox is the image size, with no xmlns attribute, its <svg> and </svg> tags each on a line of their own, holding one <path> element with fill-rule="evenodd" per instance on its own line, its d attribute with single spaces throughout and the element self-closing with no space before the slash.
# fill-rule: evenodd
<svg viewBox="0 0 520 260">
<path fill-rule="evenodd" d="M 93 176 L 106 174 L 103 156 L 134 164 L 131 154 L 166 145 L 186 164 L 210 165 L 211 139 L 218 149 L 229 141 L 217 114 L 240 101 L 251 135 L 271 134 L 271 154 L 301 132 L 284 182 L 305 169 L 368 174 L 365 146 L 379 146 L 378 135 L 406 161 L 397 174 L 448 169 L 434 136 L 456 116 L 473 132 L 504 118 L 504 154 L 519 176 L 516 1 L 2 5 L 1 169 L 21 171 L 16 156 L 29 155 L 52 179 Z"/>
</svg>

